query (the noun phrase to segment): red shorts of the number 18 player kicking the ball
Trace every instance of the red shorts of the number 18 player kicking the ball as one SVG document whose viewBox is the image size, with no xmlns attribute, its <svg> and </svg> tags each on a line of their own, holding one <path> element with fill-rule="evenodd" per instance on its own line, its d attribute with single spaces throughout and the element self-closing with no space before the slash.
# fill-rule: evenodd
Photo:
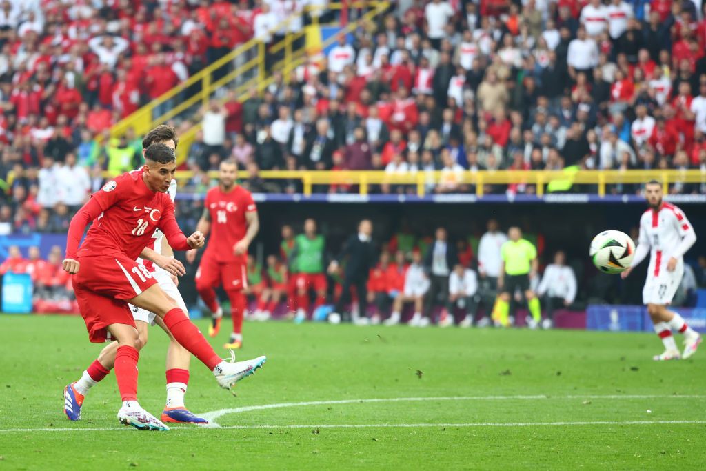
<svg viewBox="0 0 706 471">
<path fill-rule="evenodd" d="M 126 324 L 135 327 L 127 299 L 132 299 L 157 280 L 138 263 L 122 254 L 79 257 L 73 290 L 91 342 L 110 340 L 107 327 Z"/>
</svg>

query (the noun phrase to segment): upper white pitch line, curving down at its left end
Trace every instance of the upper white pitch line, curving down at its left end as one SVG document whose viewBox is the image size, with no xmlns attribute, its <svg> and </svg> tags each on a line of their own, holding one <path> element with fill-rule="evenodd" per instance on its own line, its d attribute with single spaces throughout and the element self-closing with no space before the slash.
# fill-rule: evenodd
<svg viewBox="0 0 706 471">
<path fill-rule="evenodd" d="M 450 396 L 440 398 L 375 398 L 375 399 L 345 399 L 345 400 L 313 400 L 304 403 L 279 403 L 263 405 L 247 405 L 232 409 L 220 409 L 202 414 L 201 417 L 210 422 L 211 427 L 219 427 L 216 419 L 229 414 L 252 412 L 253 410 L 280 409 L 282 407 L 306 407 L 309 405 L 339 405 L 360 403 L 402 403 L 414 401 L 435 400 L 546 400 L 546 399 L 703 399 L 706 395 L 485 395 L 485 396 Z"/>
</svg>

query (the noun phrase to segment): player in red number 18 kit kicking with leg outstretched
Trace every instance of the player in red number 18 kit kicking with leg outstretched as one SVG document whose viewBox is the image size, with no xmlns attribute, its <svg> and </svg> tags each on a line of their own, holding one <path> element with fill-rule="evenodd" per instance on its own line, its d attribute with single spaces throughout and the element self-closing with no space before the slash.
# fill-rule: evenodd
<svg viewBox="0 0 706 471">
<path fill-rule="evenodd" d="M 157 285 L 152 273 L 136 262 L 156 228 L 174 250 L 203 246 L 203 234 L 197 231 L 187 238 L 174 218 L 174 203 L 166 192 L 176 169 L 174 150 L 162 143 L 150 145 L 140 171 L 109 181 L 76 213 L 66 242 L 63 266 L 73 275 L 90 341 L 118 342 L 114 370 L 123 400 L 118 419 L 138 429 L 169 430 L 137 401 L 137 363 L 142 341 L 128 302 L 162 318 L 177 342 L 213 371 L 222 388 L 231 388 L 253 374 L 266 359 L 237 363 L 222 360 L 177 302 Z M 93 224 L 80 244 L 89 222 Z"/>
</svg>

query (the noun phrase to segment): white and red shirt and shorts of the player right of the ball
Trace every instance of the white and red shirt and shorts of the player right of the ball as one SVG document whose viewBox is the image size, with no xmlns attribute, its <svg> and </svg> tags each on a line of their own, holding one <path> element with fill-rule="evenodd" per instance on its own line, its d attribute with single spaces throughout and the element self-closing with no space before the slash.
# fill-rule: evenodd
<svg viewBox="0 0 706 471">
<path fill-rule="evenodd" d="M 637 266 L 649 251 L 650 266 L 642 288 L 642 304 L 666 306 L 671 303 L 684 274 L 683 255 L 694 242 L 694 228 L 675 205 L 663 203 L 658 211 L 650 208 L 642 214 L 640 239 L 631 265 Z M 672 257 L 677 260 L 676 268 L 669 271 L 666 266 Z"/>
</svg>

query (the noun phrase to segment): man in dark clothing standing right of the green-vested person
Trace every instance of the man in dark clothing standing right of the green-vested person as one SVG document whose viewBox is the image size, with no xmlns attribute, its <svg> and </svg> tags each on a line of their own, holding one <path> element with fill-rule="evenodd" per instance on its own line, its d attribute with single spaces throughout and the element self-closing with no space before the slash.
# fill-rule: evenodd
<svg viewBox="0 0 706 471">
<path fill-rule="evenodd" d="M 343 291 L 336 303 L 335 312 L 342 313 L 344 321 L 350 321 L 349 313 L 344 312 L 345 305 L 351 300 L 351 287 L 356 288 L 358 294 L 359 316 L 366 316 L 368 308 L 368 275 L 370 269 L 375 265 L 376 257 L 373 249 L 371 236 L 373 234 L 373 223 L 370 220 L 362 220 L 358 225 L 358 234 L 352 235 L 347 240 L 340 256 L 337 256 L 328 267 L 328 273 L 335 273 L 344 258 L 348 258 L 343 271 Z"/>
</svg>

